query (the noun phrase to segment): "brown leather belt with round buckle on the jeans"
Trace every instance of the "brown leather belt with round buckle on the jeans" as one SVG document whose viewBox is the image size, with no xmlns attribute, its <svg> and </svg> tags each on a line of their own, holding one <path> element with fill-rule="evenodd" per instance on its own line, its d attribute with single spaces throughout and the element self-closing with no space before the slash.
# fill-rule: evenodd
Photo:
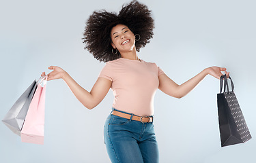
<svg viewBox="0 0 256 163">
<path fill-rule="evenodd" d="M 132 115 L 130 115 L 128 113 L 122 113 L 122 112 L 116 111 L 116 110 L 112 111 L 111 114 L 117 115 L 118 117 L 124 117 L 124 118 L 126 118 L 128 120 L 130 120 L 130 117 L 132 116 Z M 144 124 L 144 123 L 153 122 L 153 116 L 143 116 L 143 117 L 140 117 L 140 116 L 137 116 L 137 115 L 133 115 L 132 116 L 132 120 L 136 120 L 136 121 L 139 121 L 139 122 Z"/>
</svg>

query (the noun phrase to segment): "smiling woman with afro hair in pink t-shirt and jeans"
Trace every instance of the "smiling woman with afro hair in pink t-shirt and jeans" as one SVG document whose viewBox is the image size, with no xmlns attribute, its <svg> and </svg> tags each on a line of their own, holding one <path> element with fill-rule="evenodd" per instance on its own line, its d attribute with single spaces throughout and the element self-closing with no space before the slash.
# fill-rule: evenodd
<svg viewBox="0 0 256 163">
<path fill-rule="evenodd" d="M 225 68 L 209 67 L 182 85 L 175 84 L 155 63 L 137 56 L 153 36 L 151 11 L 137 1 L 119 14 L 94 12 L 87 20 L 85 48 L 106 65 L 90 92 L 60 67 L 51 66 L 48 80 L 63 79 L 88 109 L 96 107 L 111 88 L 113 111 L 106 119 L 104 140 L 111 162 L 159 162 L 153 125 L 153 98 L 158 89 L 182 98 L 208 74 L 220 79 Z M 42 73 L 45 75 L 45 73 Z"/>
</svg>

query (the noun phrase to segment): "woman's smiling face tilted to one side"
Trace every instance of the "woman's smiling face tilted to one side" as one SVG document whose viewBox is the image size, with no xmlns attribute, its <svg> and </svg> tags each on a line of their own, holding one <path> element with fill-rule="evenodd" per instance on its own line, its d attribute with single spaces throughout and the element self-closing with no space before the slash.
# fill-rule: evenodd
<svg viewBox="0 0 256 163">
<path fill-rule="evenodd" d="M 130 52 L 135 48 L 135 36 L 128 26 L 117 24 L 111 30 L 111 46 L 122 52 Z"/>
</svg>

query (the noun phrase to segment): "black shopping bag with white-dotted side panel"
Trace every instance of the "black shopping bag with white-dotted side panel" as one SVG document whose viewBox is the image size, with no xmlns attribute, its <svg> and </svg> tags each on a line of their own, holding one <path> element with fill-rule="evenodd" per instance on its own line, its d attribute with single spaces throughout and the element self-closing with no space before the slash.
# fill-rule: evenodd
<svg viewBox="0 0 256 163">
<path fill-rule="evenodd" d="M 229 77 L 229 79 L 231 81 L 232 90 L 229 92 L 227 76 L 223 75 L 221 76 L 221 92 L 217 94 L 221 147 L 244 143 L 251 139 L 251 134 L 244 120 L 244 115 L 242 114 L 236 95 L 233 92 L 234 85 L 231 77 Z M 223 80 L 224 91 L 222 92 Z"/>
</svg>

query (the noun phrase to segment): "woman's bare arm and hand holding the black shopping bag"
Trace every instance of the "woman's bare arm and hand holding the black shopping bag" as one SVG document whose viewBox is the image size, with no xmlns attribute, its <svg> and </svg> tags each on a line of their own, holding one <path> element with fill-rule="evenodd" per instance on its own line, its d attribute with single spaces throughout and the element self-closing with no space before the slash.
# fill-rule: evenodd
<svg viewBox="0 0 256 163">
<path fill-rule="evenodd" d="M 217 79 L 220 79 L 221 75 L 223 75 L 221 71 L 225 71 L 225 73 L 229 75 L 229 73 L 227 73 L 226 71 L 226 68 L 209 67 L 207 69 L 204 69 L 203 71 L 201 71 L 201 73 L 189 79 L 182 85 L 176 84 L 167 75 L 162 74 L 159 76 L 158 88 L 169 96 L 173 96 L 175 98 L 182 98 L 183 96 L 186 96 L 186 94 L 188 94 L 191 90 L 193 90 L 204 79 L 206 75 L 210 74 Z"/>
</svg>

